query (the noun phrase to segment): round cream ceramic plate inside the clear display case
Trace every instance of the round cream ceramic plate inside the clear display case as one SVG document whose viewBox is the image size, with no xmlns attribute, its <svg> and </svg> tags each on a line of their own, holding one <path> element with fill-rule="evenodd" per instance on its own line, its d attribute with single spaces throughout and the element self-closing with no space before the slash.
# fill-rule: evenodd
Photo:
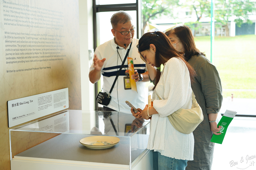
<svg viewBox="0 0 256 170">
<path fill-rule="evenodd" d="M 116 145 L 120 139 L 118 137 L 111 136 L 91 136 L 81 139 L 79 142 L 92 149 L 110 148 Z"/>
</svg>

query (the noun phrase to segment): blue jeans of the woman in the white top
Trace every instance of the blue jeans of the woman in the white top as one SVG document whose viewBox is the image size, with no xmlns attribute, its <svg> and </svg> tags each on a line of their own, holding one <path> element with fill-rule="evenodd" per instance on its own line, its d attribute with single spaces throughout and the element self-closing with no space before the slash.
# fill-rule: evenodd
<svg viewBox="0 0 256 170">
<path fill-rule="evenodd" d="M 185 170 L 187 160 L 169 158 L 161 155 L 160 152 L 153 151 L 154 170 Z"/>
</svg>

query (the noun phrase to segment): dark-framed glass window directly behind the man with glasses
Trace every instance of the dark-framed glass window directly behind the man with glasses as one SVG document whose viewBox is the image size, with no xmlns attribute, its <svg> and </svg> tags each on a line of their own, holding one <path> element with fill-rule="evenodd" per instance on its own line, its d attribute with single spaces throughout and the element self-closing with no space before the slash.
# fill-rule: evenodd
<svg viewBox="0 0 256 170">
<path fill-rule="evenodd" d="M 111 29 L 110 18 L 116 11 L 126 11 L 129 13 L 133 19 L 133 25 L 136 27 L 134 37 L 138 35 L 138 30 L 140 30 L 140 25 L 137 22 L 140 20 L 137 14 L 140 14 L 138 6 L 140 6 L 137 0 L 122 1 L 122 0 L 93 0 L 93 34 L 94 34 L 94 49 L 96 49 L 100 44 L 109 41 L 114 38 Z M 140 34 L 140 32 L 139 32 Z M 102 78 L 95 84 L 95 93 L 101 91 L 102 88 Z M 95 96 L 96 97 L 96 96 Z M 101 110 L 102 105 L 95 103 L 95 110 Z"/>
</svg>

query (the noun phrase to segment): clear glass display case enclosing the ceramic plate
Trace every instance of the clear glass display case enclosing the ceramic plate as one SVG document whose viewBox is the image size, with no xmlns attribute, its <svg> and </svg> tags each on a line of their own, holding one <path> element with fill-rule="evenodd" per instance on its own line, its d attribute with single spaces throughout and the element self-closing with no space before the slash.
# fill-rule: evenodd
<svg viewBox="0 0 256 170">
<path fill-rule="evenodd" d="M 120 141 L 108 148 L 80 143 L 96 136 Z M 10 129 L 11 169 L 138 169 L 146 155 L 143 166 L 151 169 L 148 137 L 149 121 L 129 113 L 66 110 Z"/>
</svg>

